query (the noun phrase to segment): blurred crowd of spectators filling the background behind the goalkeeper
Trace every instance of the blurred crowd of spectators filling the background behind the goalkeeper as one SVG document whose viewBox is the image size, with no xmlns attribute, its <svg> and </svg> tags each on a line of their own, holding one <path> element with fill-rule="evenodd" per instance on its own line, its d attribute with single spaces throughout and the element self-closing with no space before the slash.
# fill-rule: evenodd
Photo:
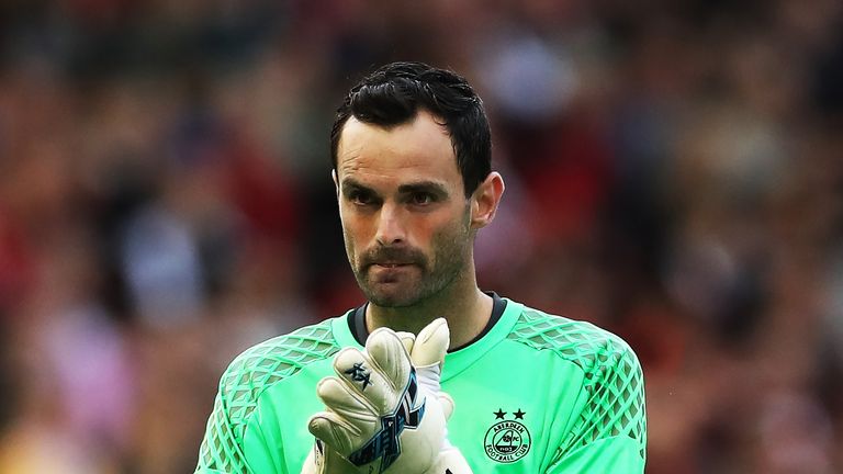
<svg viewBox="0 0 843 474">
<path fill-rule="evenodd" d="M 632 345 L 648 473 L 843 471 L 842 26 L 839 0 L 0 2 L 0 474 L 192 472 L 226 363 L 362 302 L 328 134 L 397 59 L 484 98 L 481 285 Z"/>
</svg>

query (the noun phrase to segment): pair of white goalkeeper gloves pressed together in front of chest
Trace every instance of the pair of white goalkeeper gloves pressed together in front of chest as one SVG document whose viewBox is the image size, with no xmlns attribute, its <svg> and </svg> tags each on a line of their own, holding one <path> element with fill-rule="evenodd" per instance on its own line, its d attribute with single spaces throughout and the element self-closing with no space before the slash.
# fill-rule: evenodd
<svg viewBox="0 0 843 474">
<path fill-rule="evenodd" d="M 326 410 L 307 424 L 316 444 L 302 474 L 471 474 L 447 438 L 453 400 L 439 391 L 449 338 L 439 318 L 418 337 L 380 328 L 364 351 L 337 353 L 337 376 L 316 387 Z"/>
</svg>

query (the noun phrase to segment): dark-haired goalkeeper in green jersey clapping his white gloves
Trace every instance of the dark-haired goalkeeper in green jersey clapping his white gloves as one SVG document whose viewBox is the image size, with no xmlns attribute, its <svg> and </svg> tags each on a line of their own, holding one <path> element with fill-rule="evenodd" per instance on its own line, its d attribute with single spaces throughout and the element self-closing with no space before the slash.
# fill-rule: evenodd
<svg viewBox="0 0 843 474">
<path fill-rule="evenodd" d="M 465 80 L 387 65 L 351 89 L 330 142 L 368 303 L 235 359 L 196 472 L 643 472 L 631 349 L 477 287 L 473 241 L 504 182 Z"/>
</svg>

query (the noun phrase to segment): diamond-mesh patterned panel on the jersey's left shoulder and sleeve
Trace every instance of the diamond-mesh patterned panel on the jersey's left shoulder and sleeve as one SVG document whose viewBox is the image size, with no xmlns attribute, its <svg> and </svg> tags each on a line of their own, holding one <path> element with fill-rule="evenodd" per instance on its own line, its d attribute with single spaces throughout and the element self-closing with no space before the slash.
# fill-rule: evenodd
<svg viewBox="0 0 843 474">
<path fill-rule="evenodd" d="M 238 356 L 220 381 L 220 393 L 199 451 L 196 471 L 250 473 L 240 449 L 258 396 L 278 381 L 339 351 L 330 320 L 259 343 Z"/>
</svg>

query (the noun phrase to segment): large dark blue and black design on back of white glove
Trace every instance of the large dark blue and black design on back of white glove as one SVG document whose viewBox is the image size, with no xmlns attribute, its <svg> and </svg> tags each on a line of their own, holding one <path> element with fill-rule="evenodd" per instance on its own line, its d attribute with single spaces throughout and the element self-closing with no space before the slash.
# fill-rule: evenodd
<svg viewBox="0 0 843 474">
<path fill-rule="evenodd" d="M 398 437 L 404 428 L 416 429 L 425 416 L 425 404 L 416 406 L 418 396 L 418 382 L 416 370 L 409 372 L 409 381 L 404 387 L 398 406 L 395 411 L 381 417 L 381 430 L 366 442 L 359 450 L 348 455 L 348 460 L 356 466 L 362 466 L 374 462 L 379 458 L 381 467 L 378 472 L 385 471 L 401 455 L 401 441 Z"/>
</svg>

